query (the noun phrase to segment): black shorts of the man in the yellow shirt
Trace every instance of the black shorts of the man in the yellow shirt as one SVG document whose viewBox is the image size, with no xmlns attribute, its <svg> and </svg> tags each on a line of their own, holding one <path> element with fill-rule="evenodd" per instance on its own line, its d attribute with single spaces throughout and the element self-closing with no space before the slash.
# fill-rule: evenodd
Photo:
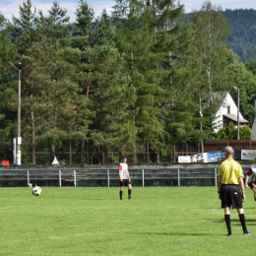
<svg viewBox="0 0 256 256">
<path fill-rule="evenodd" d="M 239 185 L 222 185 L 222 208 L 241 209 L 242 194 Z"/>
</svg>

